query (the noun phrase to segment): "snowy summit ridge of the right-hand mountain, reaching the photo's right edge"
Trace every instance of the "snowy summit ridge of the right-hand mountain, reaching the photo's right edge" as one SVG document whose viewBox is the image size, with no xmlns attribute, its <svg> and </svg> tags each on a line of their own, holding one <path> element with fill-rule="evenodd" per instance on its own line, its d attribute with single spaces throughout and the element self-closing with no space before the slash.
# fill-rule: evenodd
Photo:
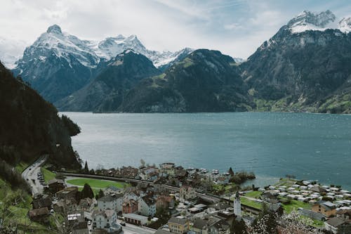
<svg viewBox="0 0 351 234">
<path fill-rule="evenodd" d="M 308 30 L 324 31 L 328 29 L 338 29 L 341 32 L 351 31 L 351 18 L 336 20 L 336 15 L 331 11 L 312 13 L 303 11 L 291 19 L 286 25 L 292 33 L 300 33 Z"/>
</svg>

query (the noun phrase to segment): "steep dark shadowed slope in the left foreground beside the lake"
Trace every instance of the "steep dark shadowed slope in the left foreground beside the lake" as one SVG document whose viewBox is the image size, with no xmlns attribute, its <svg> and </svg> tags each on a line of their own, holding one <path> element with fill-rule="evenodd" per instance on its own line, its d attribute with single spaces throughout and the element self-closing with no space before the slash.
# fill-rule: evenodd
<svg viewBox="0 0 351 234">
<path fill-rule="evenodd" d="M 60 167 L 80 167 L 57 110 L 0 63 L 0 158 L 32 162 L 43 153 Z M 67 121 L 67 119 L 66 119 Z"/>
</svg>

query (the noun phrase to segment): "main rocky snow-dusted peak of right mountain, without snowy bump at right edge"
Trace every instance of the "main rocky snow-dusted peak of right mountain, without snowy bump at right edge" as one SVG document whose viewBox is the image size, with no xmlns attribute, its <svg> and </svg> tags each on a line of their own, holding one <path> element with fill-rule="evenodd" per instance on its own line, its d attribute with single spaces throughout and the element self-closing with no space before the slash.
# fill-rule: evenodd
<svg viewBox="0 0 351 234">
<path fill-rule="evenodd" d="M 336 20 L 336 16 L 329 10 L 320 13 L 312 13 L 303 11 L 291 19 L 287 26 L 293 33 L 304 32 L 307 30 L 325 30 L 332 22 Z"/>
</svg>

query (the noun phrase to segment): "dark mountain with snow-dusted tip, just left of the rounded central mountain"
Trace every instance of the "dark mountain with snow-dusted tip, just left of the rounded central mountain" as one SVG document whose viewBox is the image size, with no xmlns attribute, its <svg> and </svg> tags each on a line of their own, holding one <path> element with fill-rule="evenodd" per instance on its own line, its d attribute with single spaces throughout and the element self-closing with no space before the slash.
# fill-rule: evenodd
<svg viewBox="0 0 351 234">
<path fill-rule="evenodd" d="M 145 56 L 126 50 L 110 60 L 91 83 L 55 105 L 70 111 L 117 111 L 129 89 L 160 73 Z"/>
</svg>

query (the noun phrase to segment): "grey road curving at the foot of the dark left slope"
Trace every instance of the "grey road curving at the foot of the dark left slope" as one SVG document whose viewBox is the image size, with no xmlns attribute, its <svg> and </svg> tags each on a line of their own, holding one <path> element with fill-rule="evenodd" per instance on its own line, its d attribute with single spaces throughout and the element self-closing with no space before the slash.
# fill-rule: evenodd
<svg viewBox="0 0 351 234">
<path fill-rule="evenodd" d="M 43 155 L 39 157 L 37 161 L 35 161 L 32 165 L 27 167 L 25 171 L 22 172 L 22 177 L 29 183 L 30 188 L 32 189 L 32 195 L 36 193 L 43 193 L 44 186 L 41 186 L 38 179 L 38 172 L 40 171 L 40 167 L 46 159 L 48 155 Z"/>
</svg>

